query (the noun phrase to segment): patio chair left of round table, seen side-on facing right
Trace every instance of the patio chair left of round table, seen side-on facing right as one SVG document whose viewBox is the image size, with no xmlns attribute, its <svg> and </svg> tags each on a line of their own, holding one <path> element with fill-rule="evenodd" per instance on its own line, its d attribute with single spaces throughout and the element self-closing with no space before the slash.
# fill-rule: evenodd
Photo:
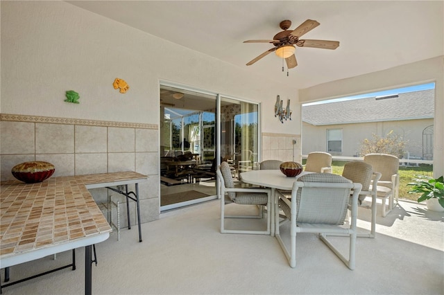
<svg viewBox="0 0 444 295">
<path fill-rule="evenodd" d="M 271 208 L 271 190 L 269 188 L 239 188 L 234 181 L 227 162 L 222 162 L 216 171 L 219 182 L 219 197 L 221 199 L 221 233 L 251 233 L 269 235 L 271 227 L 271 213 L 266 213 L 266 230 L 225 229 L 225 218 L 263 218 L 264 206 Z M 225 215 L 225 204 L 259 205 L 258 215 Z"/>
</svg>

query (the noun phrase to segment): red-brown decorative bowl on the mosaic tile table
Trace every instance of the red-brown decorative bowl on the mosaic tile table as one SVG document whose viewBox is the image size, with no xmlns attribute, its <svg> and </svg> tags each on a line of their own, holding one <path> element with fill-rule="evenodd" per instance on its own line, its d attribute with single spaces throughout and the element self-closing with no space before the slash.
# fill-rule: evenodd
<svg viewBox="0 0 444 295">
<path fill-rule="evenodd" d="M 31 161 L 12 167 L 11 173 L 19 181 L 24 181 L 26 184 L 34 184 L 48 179 L 55 170 L 56 168 L 51 163 Z"/>
</svg>

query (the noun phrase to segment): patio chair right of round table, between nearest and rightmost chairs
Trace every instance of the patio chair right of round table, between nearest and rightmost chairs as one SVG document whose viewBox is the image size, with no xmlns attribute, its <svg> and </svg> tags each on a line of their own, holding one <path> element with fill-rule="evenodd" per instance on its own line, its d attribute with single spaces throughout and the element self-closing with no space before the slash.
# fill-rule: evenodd
<svg viewBox="0 0 444 295">
<path fill-rule="evenodd" d="M 373 172 L 372 166 L 363 161 L 352 161 L 345 163 L 342 176 L 352 182 L 357 182 L 362 185 L 361 193 L 358 197 L 358 206 L 368 208 L 371 211 L 370 217 L 370 233 L 358 233 L 358 237 L 375 238 L 376 237 L 376 195 L 377 195 L 377 181 L 381 178 L 381 173 Z M 376 184 L 371 187 L 370 183 Z M 370 206 L 364 200 L 366 197 L 371 197 Z"/>
</svg>

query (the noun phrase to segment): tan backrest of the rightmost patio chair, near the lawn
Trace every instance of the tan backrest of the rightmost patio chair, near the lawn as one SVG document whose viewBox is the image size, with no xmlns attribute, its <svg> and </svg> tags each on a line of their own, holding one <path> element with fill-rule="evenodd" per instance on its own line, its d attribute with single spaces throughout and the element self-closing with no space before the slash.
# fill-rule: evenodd
<svg viewBox="0 0 444 295">
<path fill-rule="evenodd" d="M 391 154 L 366 154 L 364 162 L 369 163 L 373 171 L 381 173 L 380 181 L 391 181 L 400 168 L 400 159 Z"/>
</svg>

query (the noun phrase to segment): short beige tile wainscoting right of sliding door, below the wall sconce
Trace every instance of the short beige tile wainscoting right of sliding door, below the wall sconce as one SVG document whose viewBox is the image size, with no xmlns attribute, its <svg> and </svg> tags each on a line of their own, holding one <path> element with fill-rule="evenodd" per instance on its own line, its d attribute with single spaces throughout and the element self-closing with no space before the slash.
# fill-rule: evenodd
<svg viewBox="0 0 444 295">
<path fill-rule="evenodd" d="M 293 140 L 296 140 L 294 145 Z M 262 161 L 264 160 L 302 163 L 300 134 L 262 133 Z"/>
</svg>

